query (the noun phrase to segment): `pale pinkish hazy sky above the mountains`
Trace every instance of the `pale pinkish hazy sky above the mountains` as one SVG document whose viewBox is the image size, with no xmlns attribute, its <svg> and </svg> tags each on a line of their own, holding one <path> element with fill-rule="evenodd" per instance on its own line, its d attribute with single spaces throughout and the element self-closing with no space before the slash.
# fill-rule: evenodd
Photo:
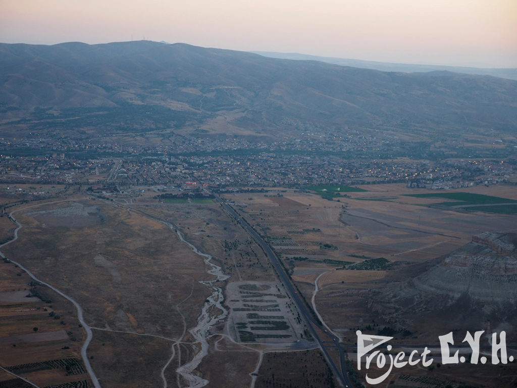
<svg viewBox="0 0 517 388">
<path fill-rule="evenodd" d="M 517 0 L 0 0 L 0 42 L 165 40 L 517 67 Z"/>
</svg>

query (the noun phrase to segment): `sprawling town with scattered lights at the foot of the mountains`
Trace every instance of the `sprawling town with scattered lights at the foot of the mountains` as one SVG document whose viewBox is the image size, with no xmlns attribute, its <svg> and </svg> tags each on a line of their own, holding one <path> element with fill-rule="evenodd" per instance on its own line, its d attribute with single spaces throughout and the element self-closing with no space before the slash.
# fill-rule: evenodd
<svg viewBox="0 0 517 388">
<path fill-rule="evenodd" d="M 317 133 L 308 135 L 314 140 Z M 36 147 L 34 139 L 11 139 L 0 144 L 0 178 L 19 184 L 123 186 L 182 186 L 194 180 L 213 189 L 379 183 L 453 189 L 517 182 L 517 158 L 508 154 L 429 160 L 390 154 L 400 150 L 400 142 L 357 133 L 317 139 L 252 144 L 241 138 L 190 137 L 174 147 L 72 139 L 40 139 Z"/>
</svg>

